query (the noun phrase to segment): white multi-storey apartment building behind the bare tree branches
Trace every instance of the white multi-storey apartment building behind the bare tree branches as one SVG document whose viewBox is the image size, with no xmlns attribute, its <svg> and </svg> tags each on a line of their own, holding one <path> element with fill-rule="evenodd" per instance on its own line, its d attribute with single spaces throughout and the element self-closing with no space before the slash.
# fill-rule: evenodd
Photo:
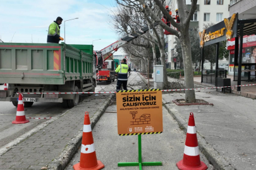
<svg viewBox="0 0 256 170">
<path fill-rule="evenodd" d="M 178 8 L 177 1 L 179 0 L 169 0 L 166 1 L 166 4 L 170 7 L 173 14 L 175 14 L 175 9 Z M 238 1 L 238 0 L 237 0 Z M 256 0 L 248 0 L 248 1 L 255 1 Z M 224 18 L 229 18 L 229 0 L 198 0 L 197 1 L 197 10 L 193 17 L 190 20 L 190 28 L 197 27 L 200 31 L 203 30 L 204 24 L 207 23 L 219 23 L 223 21 Z M 187 9 L 191 8 L 191 0 L 186 0 Z M 168 35 L 168 66 L 171 69 L 179 68 L 180 62 L 175 59 L 175 39 L 174 35 Z M 223 62 L 228 63 L 227 60 Z M 220 62 L 221 63 L 221 62 Z M 207 67 L 207 63 L 205 63 Z M 205 68 L 207 69 L 207 68 Z"/>
</svg>

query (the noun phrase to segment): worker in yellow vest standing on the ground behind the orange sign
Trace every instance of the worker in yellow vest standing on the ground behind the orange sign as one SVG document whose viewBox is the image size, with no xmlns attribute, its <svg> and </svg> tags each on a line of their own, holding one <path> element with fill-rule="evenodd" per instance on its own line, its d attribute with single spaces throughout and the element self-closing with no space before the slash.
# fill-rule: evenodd
<svg viewBox="0 0 256 170">
<path fill-rule="evenodd" d="M 121 61 L 121 64 L 116 68 L 118 72 L 118 82 L 116 83 L 116 91 L 121 90 L 121 85 L 123 84 L 123 89 L 127 90 L 127 81 L 128 81 L 128 65 L 126 64 L 126 59 Z"/>
</svg>

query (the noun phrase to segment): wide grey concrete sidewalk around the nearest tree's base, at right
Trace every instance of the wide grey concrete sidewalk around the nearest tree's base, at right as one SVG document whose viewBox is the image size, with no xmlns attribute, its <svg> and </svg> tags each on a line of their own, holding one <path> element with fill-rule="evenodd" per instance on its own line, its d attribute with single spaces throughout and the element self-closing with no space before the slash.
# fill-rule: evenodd
<svg viewBox="0 0 256 170">
<path fill-rule="evenodd" d="M 184 92 L 163 94 L 162 103 L 185 132 L 194 113 L 199 147 L 216 169 L 256 169 L 256 101 L 216 89 L 195 95 L 214 106 L 175 105 L 173 99 L 184 99 Z"/>
</svg>

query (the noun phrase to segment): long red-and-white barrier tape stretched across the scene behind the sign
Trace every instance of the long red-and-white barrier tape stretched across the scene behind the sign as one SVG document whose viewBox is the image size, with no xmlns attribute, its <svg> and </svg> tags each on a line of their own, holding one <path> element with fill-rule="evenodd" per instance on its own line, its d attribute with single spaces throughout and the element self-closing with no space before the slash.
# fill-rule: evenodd
<svg viewBox="0 0 256 170">
<path fill-rule="evenodd" d="M 232 88 L 234 89 L 235 87 L 243 87 L 243 86 L 255 86 L 256 84 L 245 84 L 245 85 L 239 85 L 239 86 L 223 86 L 223 87 L 214 87 L 214 88 L 193 88 L 193 89 L 166 89 L 166 90 L 161 90 L 161 91 L 186 91 L 186 90 L 200 90 L 200 89 L 218 89 L 218 88 Z M 138 90 L 128 90 L 126 92 L 137 92 L 137 91 L 145 91 L 144 89 L 138 89 Z M 155 91 L 155 89 L 149 89 L 147 91 Z M 123 91 L 125 92 L 125 91 Z M 106 93 L 118 93 L 116 91 L 99 91 L 99 92 L 52 92 L 52 93 L 21 93 L 21 94 L 106 94 Z M 19 93 L 17 93 L 19 94 Z"/>
</svg>

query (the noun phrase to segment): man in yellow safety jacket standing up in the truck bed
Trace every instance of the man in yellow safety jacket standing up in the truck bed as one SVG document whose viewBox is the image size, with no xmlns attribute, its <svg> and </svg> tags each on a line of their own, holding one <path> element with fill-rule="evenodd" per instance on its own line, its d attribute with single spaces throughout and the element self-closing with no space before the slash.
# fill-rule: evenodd
<svg viewBox="0 0 256 170">
<path fill-rule="evenodd" d="M 59 40 L 64 40 L 64 38 L 59 36 L 61 29 L 61 26 L 59 25 L 61 25 L 62 21 L 63 19 L 60 16 L 58 16 L 56 21 L 51 23 L 48 29 L 47 43 L 59 43 Z"/>
</svg>

